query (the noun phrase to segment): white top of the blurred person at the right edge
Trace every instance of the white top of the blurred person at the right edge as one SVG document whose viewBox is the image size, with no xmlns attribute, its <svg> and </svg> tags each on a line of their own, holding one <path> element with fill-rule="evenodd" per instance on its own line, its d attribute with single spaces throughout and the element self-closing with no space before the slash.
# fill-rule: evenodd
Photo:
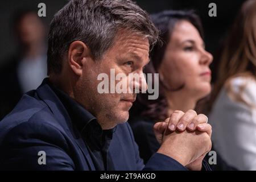
<svg viewBox="0 0 256 182">
<path fill-rule="evenodd" d="M 249 77 L 236 77 L 231 81 L 234 92 L 256 106 L 256 81 Z M 221 89 L 209 114 L 212 140 L 217 154 L 231 166 L 240 170 L 256 170 L 256 107 L 235 101 Z"/>
</svg>

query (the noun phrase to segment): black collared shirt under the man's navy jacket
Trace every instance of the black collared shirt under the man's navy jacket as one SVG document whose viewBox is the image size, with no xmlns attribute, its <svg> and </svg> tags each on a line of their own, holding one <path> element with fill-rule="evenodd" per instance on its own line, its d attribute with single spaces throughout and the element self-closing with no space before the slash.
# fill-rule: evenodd
<svg viewBox="0 0 256 182">
<path fill-rule="evenodd" d="M 114 170 L 112 160 L 108 155 L 108 150 L 115 128 L 102 130 L 97 119 L 85 110 L 82 105 L 73 100 L 63 91 L 57 89 L 50 82 L 48 82 L 48 84 L 60 98 L 65 109 L 67 109 L 72 122 L 75 123 L 80 130 L 96 170 Z"/>
</svg>

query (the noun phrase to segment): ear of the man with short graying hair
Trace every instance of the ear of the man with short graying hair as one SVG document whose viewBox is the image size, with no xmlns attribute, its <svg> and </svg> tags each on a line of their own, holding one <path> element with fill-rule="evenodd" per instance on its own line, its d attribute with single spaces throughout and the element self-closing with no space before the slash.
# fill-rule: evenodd
<svg viewBox="0 0 256 182">
<path fill-rule="evenodd" d="M 90 55 L 90 49 L 85 43 L 75 41 L 70 44 L 68 49 L 68 65 L 76 75 L 82 75 L 83 63 L 86 59 L 89 59 Z"/>
</svg>

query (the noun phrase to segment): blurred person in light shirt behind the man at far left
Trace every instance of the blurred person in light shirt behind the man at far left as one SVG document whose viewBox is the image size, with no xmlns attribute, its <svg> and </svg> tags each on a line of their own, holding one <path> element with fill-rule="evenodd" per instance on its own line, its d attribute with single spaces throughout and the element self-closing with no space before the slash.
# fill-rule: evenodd
<svg viewBox="0 0 256 182">
<path fill-rule="evenodd" d="M 17 11 L 13 31 L 18 52 L 0 71 L 0 119 L 18 103 L 23 93 L 36 89 L 47 76 L 46 27 L 32 10 Z"/>
</svg>

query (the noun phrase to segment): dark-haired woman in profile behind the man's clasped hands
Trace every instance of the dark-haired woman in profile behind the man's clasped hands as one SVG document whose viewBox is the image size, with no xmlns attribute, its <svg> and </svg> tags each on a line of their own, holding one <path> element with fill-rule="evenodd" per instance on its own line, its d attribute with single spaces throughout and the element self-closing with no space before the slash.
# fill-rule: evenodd
<svg viewBox="0 0 256 182">
<path fill-rule="evenodd" d="M 175 110 L 195 109 L 197 101 L 210 93 L 209 64 L 213 59 L 205 51 L 203 28 L 193 11 L 163 11 L 152 15 L 152 20 L 160 30 L 162 43 L 152 49 L 144 72 L 159 73 L 159 97 L 148 100 L 148 93 L 138 94 L 130 119 L 145 161 L 159 148 L 154 123 L 170 117 Z"/>
</svg>

